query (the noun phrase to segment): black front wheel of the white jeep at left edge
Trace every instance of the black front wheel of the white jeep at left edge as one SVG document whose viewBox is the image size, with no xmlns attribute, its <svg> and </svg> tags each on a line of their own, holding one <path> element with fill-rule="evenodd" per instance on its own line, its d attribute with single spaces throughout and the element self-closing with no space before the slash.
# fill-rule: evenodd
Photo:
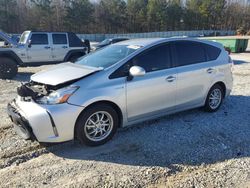
<svg viewBox="0 0 250 188">
<path fill-rule="evenodd" d="M 0 78 L 11 79 L 18 71 L 17 63 L 10 58 L 0 58 Z"/>
</svg>

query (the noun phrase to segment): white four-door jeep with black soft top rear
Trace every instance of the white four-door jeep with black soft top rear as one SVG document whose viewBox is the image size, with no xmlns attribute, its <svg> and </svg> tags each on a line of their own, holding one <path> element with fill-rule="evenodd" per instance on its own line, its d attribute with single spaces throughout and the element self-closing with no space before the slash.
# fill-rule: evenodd
<svg viewBox="0 0 250 188">
<path fill-rule="evenodd" d="M 0 79 L 13 78 L 19 66 L 74 62 L 88 47 L 71 32 L 25 31 L 19 42 L 0 32 Z"/>
</svg>

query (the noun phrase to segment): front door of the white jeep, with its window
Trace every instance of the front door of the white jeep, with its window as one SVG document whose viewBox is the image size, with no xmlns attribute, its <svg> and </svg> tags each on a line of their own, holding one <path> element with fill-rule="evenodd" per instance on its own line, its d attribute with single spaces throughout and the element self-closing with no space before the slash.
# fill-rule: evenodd
<svg viewBox="0 0 250 188">
<path fill-rule="evenodd" d="M 27 49 L 29 62 L 53 61 L 51 42 L 47 33 L 32 33 L 31 45 Z"/>
</svg>

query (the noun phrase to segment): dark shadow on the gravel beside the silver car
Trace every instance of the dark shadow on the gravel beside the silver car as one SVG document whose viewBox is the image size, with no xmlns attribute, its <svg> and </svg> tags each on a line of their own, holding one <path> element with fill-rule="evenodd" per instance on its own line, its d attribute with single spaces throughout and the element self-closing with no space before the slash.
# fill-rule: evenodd
<svg viewBox="0 0 250 188">
<path fill-rule="evenodd" d="M 250 97 L 232 95 L 216 113 L 199 109 L 121 129 L 108 143 L 47 147 L 56 156 L 135 166 L 214 164 L 250 156 Z"/>
</svg>

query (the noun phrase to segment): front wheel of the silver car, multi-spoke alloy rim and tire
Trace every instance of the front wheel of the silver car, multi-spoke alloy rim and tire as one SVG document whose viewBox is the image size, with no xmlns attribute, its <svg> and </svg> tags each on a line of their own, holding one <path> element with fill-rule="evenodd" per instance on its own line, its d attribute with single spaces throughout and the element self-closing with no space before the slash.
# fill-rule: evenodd
<svg viewBox="0 0 250 188">
<path fill-rule="evenodd" d="M 109 141 L 118 128 L 117 112 L 107 104 L 97 104 L 84 111 L 76 123 L 76 136 L 82 143 L 99 146 Z"/>
</svg>

